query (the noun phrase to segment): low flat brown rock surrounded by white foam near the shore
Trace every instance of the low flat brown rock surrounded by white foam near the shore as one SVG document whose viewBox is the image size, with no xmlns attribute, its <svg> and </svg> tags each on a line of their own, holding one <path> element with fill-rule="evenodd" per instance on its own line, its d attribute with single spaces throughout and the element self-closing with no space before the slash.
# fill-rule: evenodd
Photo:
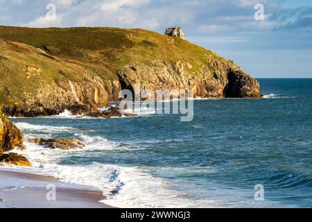
<svg viewBox="0 0 312 222">
<path fill-rule="evenodd" d="M 41 146 L 45 146 L 47 148 L 53 149 L 60 148 L 62 150 L 85 147 L 85 144 L 81 142 L 79 139 L 71 139 L 71 138 L 55 138 L 55 139 L 34 138 L 28 139 L 28 142 L 33 144 L 40 144 Z"/>
</svg>

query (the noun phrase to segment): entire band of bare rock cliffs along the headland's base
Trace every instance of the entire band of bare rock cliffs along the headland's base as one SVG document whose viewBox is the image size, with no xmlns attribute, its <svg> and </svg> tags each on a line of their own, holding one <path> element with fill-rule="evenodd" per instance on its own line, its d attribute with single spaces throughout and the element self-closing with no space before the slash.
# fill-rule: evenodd
<svg viewBox="0 0 312 222">
<path fill-rule="evenodd" d="M 194 69 L 187 61 L 166 62 L 155 60 L 151 64 L 135 63 L 117 71 L 118 80 L 103 80 L 85 74 L 83 84 L 67 80 L 38 87 L 38 92 L 23 104 L 6 105 L 3 112 L 15 117 L 38 117 L 57 115 L 64 110 L 72 114 L 87 114 L 89 117 L 121 117 L 118 112 L 98 112 L 108 101 L 118 101 L 121 89 L 135 92 L 140 85 L 142 100 L 144 90 L 176 89 L 185 92 L 192 89 L 194 97 L 202 98 L 260 98 L 257 80 L 229 60 L 207 56 L 207 64 Z M 155 96 L 156 97 L 156 96 Z"/>
</svg>

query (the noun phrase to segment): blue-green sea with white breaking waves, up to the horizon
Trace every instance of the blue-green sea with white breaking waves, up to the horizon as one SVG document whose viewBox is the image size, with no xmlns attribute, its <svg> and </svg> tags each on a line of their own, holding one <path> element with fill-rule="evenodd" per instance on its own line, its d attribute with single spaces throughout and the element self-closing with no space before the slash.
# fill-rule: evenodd
<svg viewBox="0 0 312 222">
<path fill-rule="evenodd" d="M 263 99 L 196 100 L 191 122 L 153 110 L 12 121 L 26 137 L 83 140 L 79 151 L 26 144 L 24 154 L 32 171 L 102 189 L 109 205 L 312 207 L 312 79 L 259 81 Z"/>
</svg>

